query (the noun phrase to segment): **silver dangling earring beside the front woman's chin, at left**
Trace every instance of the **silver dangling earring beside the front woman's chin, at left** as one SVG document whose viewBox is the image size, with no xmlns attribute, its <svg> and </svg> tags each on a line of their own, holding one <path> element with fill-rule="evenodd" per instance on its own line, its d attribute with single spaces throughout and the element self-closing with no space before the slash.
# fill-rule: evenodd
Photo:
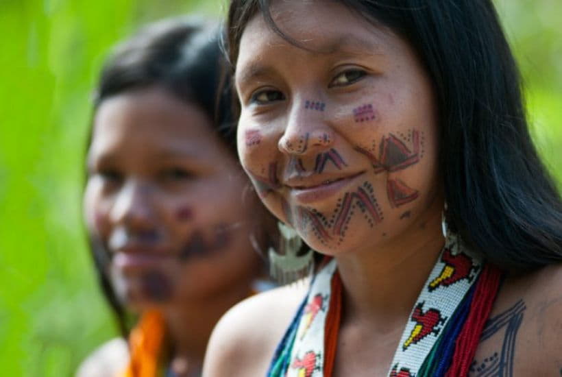
<svg viewBox="0 0 562 377">
<path fill-rule="evenodd" d="M 269 274 L 280 284 L 289 284 L 308 276 L 314 268 L 314 252 L 308 250 L 298 255 L 302 239 L 293 229 L 278 221 L 280 254 L 269 247 Z"/>
</svg>

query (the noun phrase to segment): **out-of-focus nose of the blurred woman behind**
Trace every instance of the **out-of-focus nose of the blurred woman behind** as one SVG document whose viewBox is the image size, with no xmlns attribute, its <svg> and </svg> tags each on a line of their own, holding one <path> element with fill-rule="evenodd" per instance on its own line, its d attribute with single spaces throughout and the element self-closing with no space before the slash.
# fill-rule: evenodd
<svg viewBox="0 0 562 377">
<path fill-rule="evenodd" d="M 115 224 L 139 230 L 154 226 L 154 201 L 151 187 L 145 182 L 131 180 L 117 194 L 110 212 Z"/>
</svg>

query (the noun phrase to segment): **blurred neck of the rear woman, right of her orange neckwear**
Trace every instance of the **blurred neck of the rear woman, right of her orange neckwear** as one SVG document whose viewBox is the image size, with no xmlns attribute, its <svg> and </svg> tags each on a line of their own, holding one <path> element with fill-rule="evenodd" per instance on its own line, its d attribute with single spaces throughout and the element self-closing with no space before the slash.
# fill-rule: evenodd
<svg viewBox="0 0 562 377">
<path fill-rule="evenodd" d="M 212 329 L 234 304 L 248 297 L 252 281 L 237 282 L 213 297 L 185 302 L 164 311 L 175 376 L 197 376 Z"/>
</svg>

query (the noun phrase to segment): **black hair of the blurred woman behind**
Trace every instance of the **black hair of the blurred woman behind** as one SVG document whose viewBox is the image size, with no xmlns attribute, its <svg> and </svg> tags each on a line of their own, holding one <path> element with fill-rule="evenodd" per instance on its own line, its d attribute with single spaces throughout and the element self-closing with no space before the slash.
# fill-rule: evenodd
<svg viewBox="0 0 562 377">
<path fill-rule="evenodd" d="M 114 95 L 154 86 L 164 88 L 176 98 L 199 106 L 235 158 L 228 77 L 222 74 L 221 57 L 218 29 L 204 21 L 180 17 L 148 25 L 117 45 L 106 60 L 95 91 L 94 113 Z M 130 321 L 110 282 L 108 252 L 93 237 L 90 250 L 103 294 L 117 317 L 121 334 L 126 336 Z"/>
</svg>

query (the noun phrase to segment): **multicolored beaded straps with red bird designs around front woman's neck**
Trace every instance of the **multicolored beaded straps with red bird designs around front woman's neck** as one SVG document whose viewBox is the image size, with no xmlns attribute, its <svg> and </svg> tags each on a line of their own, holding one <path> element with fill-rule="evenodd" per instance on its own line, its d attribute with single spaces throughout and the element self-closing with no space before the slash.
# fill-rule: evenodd
<svg viewBox="0 0 562 377">
<path fill-rule="evenodd" d="M 456 236 L 450 236 L 419 294 L 388 375 L 465 375 L 462 371 L 474 357 L 499 276 L 492 267 L 482 268 L 480 259 L 467 253 Z M 329 377 L 340 313 L 341 280 L 332 260 L 315 276 L 267 376 Z"/>
</svg>

